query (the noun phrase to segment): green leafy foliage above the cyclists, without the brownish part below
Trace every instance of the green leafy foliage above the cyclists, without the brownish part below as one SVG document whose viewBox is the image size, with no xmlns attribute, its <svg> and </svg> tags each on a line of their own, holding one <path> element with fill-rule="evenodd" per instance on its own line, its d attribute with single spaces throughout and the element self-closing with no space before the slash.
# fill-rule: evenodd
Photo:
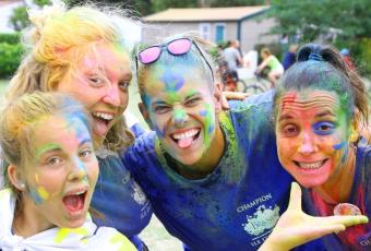
<svg viewBox="0 0 371 251">
<path fill-rule="evenodd" d="M 272 0 L 271 15 L 278 23 L 274 33 L 302 35 L 313 40 L 330 31 L 340 31 L 344 39 L 371 34 L 369 0 Z"/>
</svg>

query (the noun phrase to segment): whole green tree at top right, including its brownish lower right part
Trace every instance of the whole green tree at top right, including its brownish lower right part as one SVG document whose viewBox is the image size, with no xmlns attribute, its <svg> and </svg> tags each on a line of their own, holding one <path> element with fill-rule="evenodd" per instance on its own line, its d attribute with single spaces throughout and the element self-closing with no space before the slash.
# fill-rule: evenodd
<svg viewBox="0 0 371 251">
<path fill-rule="evenodd" d="M 335 46 L 348 47 L 361 73 L 371 75 L 371 4 L 369 0 L 272 0 L 275 34 L 300 35 L 307 43 L 337 32 Z"/>
</svg>

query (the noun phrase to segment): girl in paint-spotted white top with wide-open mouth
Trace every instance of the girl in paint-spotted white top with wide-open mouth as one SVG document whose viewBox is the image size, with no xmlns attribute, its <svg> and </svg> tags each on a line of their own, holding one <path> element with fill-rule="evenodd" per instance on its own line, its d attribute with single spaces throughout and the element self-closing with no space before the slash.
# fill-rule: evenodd
<svg viewBox="0 0 371 251">
<path fill-rule="evenodd" d="M 5 106 L 0 132 L 9 164 L 0 250 L 136 250 L 87 215 L 99 167 L 82 105 L 62 94 L 26 94 Z"/>
</svg>

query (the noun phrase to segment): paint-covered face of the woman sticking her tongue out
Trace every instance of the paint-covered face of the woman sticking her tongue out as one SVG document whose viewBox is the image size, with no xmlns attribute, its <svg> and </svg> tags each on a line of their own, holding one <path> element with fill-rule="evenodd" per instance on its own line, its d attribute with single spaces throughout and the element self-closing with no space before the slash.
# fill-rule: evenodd
<svg viewBox="0 0 371 251">
<path fill-rule="evenodd" d="M 157 62 L 145 77 L 142 95 L 152 127 L 164 147 L 176 159 L 188 156 L 184 163 L 188 165 L 198 162 L 207 151 L 216 123 L 213 88 L 200 67 L 193 64 L 175 63 L 169 68 Z M 180 136 L 181 133 L 193 138 Z M 177 135 L 188 139 L 175 140 Z"/>
</svg>

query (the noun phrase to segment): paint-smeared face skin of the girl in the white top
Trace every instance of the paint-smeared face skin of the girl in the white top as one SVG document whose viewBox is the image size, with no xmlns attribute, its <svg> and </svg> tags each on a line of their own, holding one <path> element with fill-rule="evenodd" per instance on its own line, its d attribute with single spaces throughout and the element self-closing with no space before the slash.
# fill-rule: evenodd
<svg viewBox="0 0 371 251">
<path fill-rule="evenodd" d="M 38 226 L 81 226 L 98 176 L 86 124 L 75 115 L 45 117 L 35 121 L 31 142 L 34 157 L 25 164 L 25 206 L 36 205 L 29 207 Z M 70 211 L 64 199 L 79 191 L 86 193 L 82 207 Z"/>
</svg>

